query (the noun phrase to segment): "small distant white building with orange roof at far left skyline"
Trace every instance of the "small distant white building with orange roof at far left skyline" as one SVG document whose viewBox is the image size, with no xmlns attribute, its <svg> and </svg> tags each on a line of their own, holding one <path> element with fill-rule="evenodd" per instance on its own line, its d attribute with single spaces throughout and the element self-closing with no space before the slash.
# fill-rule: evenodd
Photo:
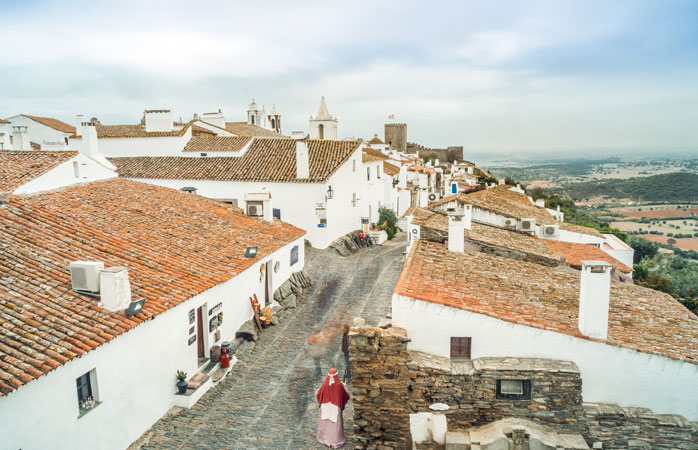
<svg viewBox="0 0 698 450">
<path fill-rule="evenodd" d="M 0 149 L 66 150 L 75 127 L 52 117 L 20 114 L 0 121 Z"/>
</svg>

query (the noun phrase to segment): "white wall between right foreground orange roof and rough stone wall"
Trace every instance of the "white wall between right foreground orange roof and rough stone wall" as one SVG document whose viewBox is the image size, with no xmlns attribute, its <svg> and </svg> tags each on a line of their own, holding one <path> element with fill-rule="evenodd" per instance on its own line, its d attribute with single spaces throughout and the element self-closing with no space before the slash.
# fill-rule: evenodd
<svg viewBox="0 0 698 450">
<path fill-rule="evenodd" d="M 601 342 L 517 325 L 458 308 L 393 295 L 395 326 L 408 349 L 449 357 L 450 338 L 472 337 L 472 358 L 526 357 L 574 361 L 585 402 L 638 406 L 698 420 L 698 365 Z"/>
</svg>

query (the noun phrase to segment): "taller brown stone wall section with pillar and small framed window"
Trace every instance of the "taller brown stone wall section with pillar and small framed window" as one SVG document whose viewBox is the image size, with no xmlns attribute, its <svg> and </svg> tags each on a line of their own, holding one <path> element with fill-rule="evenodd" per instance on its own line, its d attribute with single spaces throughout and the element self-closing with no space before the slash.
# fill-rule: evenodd
<svg viewBox="0 0 698 450">
<path fill-rule="evenodd" d="M 581 378 L 573 363 L 541 359 L 481 358 L 451 364 L 407 350 L 402 328 L 353 328 L 350 333 L 356 449 L 402 449 L 409 415 L 445 403 L 449 429 L 524 417 L 578 430 Z M 500 378 L 531 380 L 530 400 L 498 400 Z M 382 446 L 382 447 L 381 447 Z"/>
</svg>

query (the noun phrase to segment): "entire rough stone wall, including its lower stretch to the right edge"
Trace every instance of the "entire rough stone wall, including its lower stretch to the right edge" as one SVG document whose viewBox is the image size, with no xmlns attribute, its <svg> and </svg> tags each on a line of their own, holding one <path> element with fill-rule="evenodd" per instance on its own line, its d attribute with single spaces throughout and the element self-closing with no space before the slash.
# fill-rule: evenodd
<svg viewBox="0 0 698 450">
<path fill-rule="evenodd" d="M 644 409 L 583 405 L 569 361 L 479 358 L 451 362 L 407 350 L 402 328 L 354 327 L 349 334 L 355 449 L 411 448 L 409 415 L 445 403 L 449 431 L 515 417 L 579 433 L 590 447 L 698 449 L 695 423 Z M 499 400 L 497 379 L 531 380 L 530 400 Z M 599 447 L 596 447 L 599 448 Z"/>
</svg>

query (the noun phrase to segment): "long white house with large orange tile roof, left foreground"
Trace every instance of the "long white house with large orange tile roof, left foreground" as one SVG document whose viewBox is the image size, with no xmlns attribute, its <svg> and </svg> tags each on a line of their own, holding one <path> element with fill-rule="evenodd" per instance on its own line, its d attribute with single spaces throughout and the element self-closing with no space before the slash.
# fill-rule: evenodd
<svg viewBox="0 0 698 450">
<path fill-rule="evenodd" d="M 3 448 L 128 447 L 181 403 L 175 372 L 203 370 L 249 298 L 303 268 L 303 230 L 172 189 L 113 178 L 3 200 Z M 71 279 L 72 261 L 89 263 Z"/>
</svg>

